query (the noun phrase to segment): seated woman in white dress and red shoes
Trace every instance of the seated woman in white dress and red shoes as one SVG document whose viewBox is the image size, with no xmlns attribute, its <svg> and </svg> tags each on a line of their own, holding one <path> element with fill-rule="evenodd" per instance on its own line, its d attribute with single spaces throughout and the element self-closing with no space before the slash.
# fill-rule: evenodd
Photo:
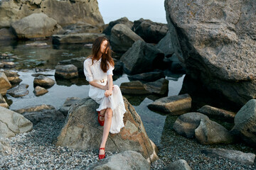
<svg viewBox="0 0 256 170">
<path fill-rule="evenodd" d="M 84 72 L 90 84 L 89 96 L 100 104 L 96 109 L 98 122 L 104 126 L 99 159 L 105 158 L 109 132 L 118 133 L 124 127 L 124 100 L 119 86 L 113 86 L 113 69 L 109 40 L 105 37 L 97 38 L 92 44 L 92 55 L 84 62 Z"/>
</svg>

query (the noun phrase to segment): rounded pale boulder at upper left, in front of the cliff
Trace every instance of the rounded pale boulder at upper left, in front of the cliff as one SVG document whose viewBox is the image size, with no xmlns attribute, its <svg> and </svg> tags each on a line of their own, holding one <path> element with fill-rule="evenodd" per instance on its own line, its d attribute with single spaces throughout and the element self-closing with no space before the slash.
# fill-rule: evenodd
<svg viewBox="0 0 256 170">
<path fill-rule="evenodd" d="M 18 38 L 46 38 L 57 33 L 61 27 L 57 21 L 44 13 L 33 13 L 11 24 Z"/>
</svg>

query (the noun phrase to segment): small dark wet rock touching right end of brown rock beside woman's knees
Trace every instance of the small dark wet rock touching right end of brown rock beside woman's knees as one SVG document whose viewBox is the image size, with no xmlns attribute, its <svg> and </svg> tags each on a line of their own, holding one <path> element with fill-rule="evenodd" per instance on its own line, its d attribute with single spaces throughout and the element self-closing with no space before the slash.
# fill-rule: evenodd
<svg viewBox="0 0 256 170">
<path fill-rule="evenodd" d="M 169 84 L 168 80 L 161 78 L 157 81 L 146 83 L 145 85 L 146 85 L 146 90 L 150 91 L 151 94 L 164 95 L 168 93 L 168 88 L 169 88 L 168 84 Z"/>
</svg>

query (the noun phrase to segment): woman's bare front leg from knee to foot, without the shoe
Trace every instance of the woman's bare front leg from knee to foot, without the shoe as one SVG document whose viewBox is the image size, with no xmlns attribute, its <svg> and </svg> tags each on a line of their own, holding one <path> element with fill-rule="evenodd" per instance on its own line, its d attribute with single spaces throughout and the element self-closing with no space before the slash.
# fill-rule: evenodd
<svg viewBox="0 0 256 170">
<path fill-rule="evenodd" d="M 104 123 L 104 130 L 103 130 L 103 135 L 102 135 L 102 142 L 100 144 L 100 147 L 105 147 L 106 142 L 107 142 L 107 137 L 110 133 L 110 127 L 112 123 L 112 116 L 113 116 L 113 111 L 111 108 L 107 108 L 105 111 L 105 123 Z M 105 151 L 103 149 L 100 149 L 99 154 L 105 154 Z"/>
</svg>

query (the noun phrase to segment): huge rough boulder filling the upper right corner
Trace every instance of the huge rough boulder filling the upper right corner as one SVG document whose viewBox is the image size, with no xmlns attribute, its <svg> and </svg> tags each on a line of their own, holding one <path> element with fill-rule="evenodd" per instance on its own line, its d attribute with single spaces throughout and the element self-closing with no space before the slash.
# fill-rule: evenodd
<svg viewBox="0 0 256 170">
<path fill-rule="evenodd" d="M 255 98 L 256 2 L 166 0 L 165 8 L 187 74 L 239 106 Z"/>
</svg>

